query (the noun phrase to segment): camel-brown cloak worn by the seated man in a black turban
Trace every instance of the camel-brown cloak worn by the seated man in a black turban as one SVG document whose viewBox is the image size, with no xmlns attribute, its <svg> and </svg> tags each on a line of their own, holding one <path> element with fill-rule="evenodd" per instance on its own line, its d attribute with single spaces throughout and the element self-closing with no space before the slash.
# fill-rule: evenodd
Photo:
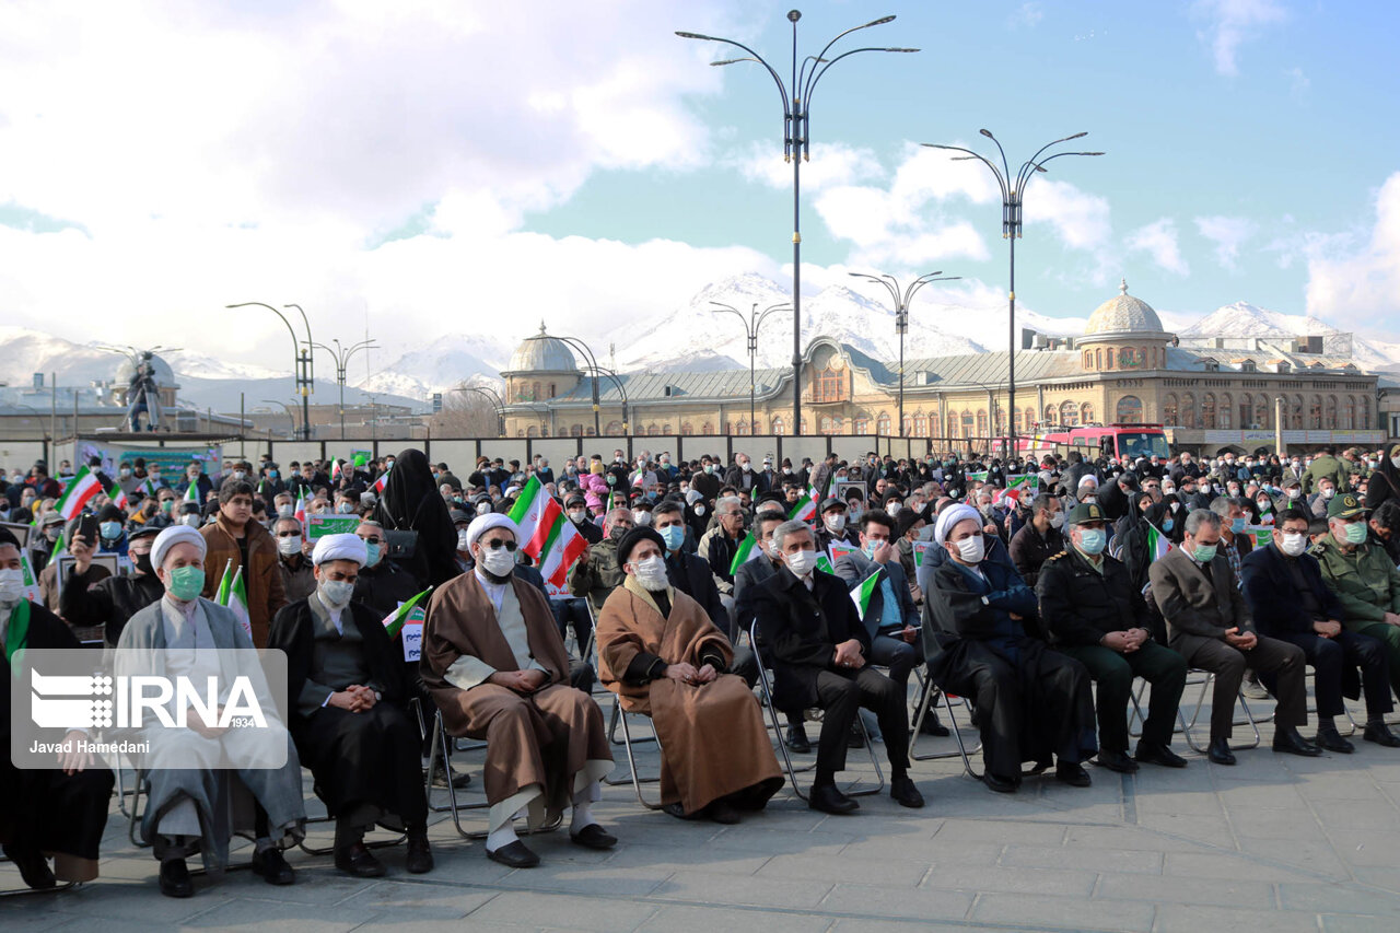
<svg viewBox="0 0 1400 933">
<path fill-rule="evenodd" d="M 661 742 L 661 800 L 687 814 L 739 792 L 745 804 L 762 807 L 778 787 L 773 744 L 759 700 L 743 678 L 721 674 L 710 684 L 683 684 L 661 677 L 645 685 L 626 684 L 627 665 L 638 653 L 666 664 L 701 665 L 715 649 L 725 664 L 734 649 L 710 616 L 685 593 L 668 590 L 671 615 L 633 579 L 612 591 L 598 619 L 599 678 L 622 698 L 623 709 L 651 716 Z"/>
</svg>

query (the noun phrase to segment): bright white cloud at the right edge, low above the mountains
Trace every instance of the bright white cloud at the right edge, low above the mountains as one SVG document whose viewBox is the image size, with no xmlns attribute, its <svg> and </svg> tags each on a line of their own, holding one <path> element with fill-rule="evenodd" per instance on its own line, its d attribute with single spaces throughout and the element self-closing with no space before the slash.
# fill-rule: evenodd
<svg viewBox="0 0 1400 933">
<path fill-rule="evenodd" d="M 1308 314 L 1313 317 L 1347 326 L 1393 321 L 1400 314 L 1400 172 L 1376 195 L 1369 242 L 1352 255 L 1319 251 L 1308 272 Z"/>
</svg>

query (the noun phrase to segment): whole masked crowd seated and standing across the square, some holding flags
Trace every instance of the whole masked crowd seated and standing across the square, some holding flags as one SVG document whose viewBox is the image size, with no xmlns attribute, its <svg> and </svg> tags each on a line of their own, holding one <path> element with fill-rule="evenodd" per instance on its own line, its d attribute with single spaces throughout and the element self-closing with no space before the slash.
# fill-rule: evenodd
<svg viewBox="0 0 1400 933">
<path fill-rule="evenodd" d="M 465 482 L 419 450 L 286 471 L 265 455 L 217 475 L 200 461 L 102 466 L 0 479 L 7 712 L 25 649 L 98 642 L 190 665 L 199 649 L 280 649 L 288 663 L 286 765 L 146 772 L 140 835 L 171 897 L 193 892 L 188 859 L 227 864 L 235 831 L 255 839 L 260 877 L 291 884 L 302 766 L 335 820 L 337 869 L 385 874 L 364 842 L 382 825 L 405 835 L 410 873 L 431 871 L 428 790 L 469 780 L 448 762 L 424 773 L 435 716 L 486 742 L 490 859 L 538 864 L 522 831 L 566 814 L 573 843 L 610 849 L 592 813 L 613 768 L 595 686 L 651 719 L 665 813 L 720 824 L 797 780 L 764 691 L 784 720 L 776 741 L 815 752 L 804 796 L 829 814 L 860 808 L 836 778 L 865 744 L 883 744 L 890 797 L 924 806 L 910 733 L 916 719 L 923 734 L 956 727 L 938 692 L 966 698 L 997 793 L 1051 766 L 1070 787 L 1091 785 L 1086 763 L 1187 766 L 1172 740 L 1190 670 L 1214 675 L 1215 765 L 1236 761 L 1240 691 L 1277 700 L 1275 752 L 1352 754 L 1337 727 L 1348 696 L 1364 702 L 1364 741 L 1400 747 L 1386 724 L 1400 695 L 1400 445 L 797 464 L 613 450 L 557 468 L 480 457 Z M 74 507 L 87 476 L 105 493 Z M 546 535 L 521 524 L 539 502 L 578 542 L 549 579 Z M 318 514 L 350 521 L 318 535 Z M 230 569 L 239 607 L 220 595 Z M 424 593 L 409 653 L 389 619 Z M 1135 678 L 1149 692 L 1134 747 Z M 186 738 L 231 741 L 209 723 Z M 227 782 L 251 794 L 246 813 L 230 813 Z M 97 877 L 112 789 L 84 754 L 49 770 L 3 763 L 0 842 L 27 884 Z"/>
</svg>

